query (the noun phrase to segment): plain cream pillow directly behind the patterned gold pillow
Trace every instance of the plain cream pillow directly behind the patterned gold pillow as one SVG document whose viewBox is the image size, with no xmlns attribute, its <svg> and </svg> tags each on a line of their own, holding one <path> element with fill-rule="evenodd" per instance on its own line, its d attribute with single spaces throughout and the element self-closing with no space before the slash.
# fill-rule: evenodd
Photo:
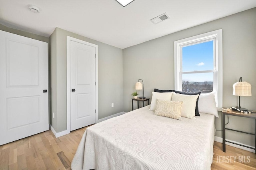
<svg viewBox="0 0 256 170">
<path fill-rule="evenodd" d="M 190 119 L 195 118 L 196 100 L 199 95 L 182 95 L 179 93 L 172 94 L 172 101 L 183 101 L 181 116 Z"/>
</svg>

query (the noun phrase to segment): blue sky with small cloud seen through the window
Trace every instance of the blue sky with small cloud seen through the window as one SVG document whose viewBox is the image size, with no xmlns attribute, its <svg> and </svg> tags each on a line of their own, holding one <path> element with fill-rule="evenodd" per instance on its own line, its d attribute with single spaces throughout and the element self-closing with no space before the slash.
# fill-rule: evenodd
<svg viewBox="0 0 256 170">
<path fill-rule="evenodd" d="M 213 41 L 182 47 L 182 71 L 213 70 Z M 213 81 L 213 73 L 183 75 L 185 81 Z"/>
</svg>

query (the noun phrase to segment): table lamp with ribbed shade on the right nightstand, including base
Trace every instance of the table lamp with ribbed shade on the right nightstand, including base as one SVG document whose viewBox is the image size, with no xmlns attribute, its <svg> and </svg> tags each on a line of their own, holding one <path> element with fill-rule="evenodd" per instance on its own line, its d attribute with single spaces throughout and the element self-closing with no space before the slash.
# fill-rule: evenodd
<svg viewBox="0 0 256 170">
<path fill-rule="evenodd" d="M 251 96 L 252 95 L 252 86 L 246 81 L 242 81 L 240 77 L 239 81 L 233 85 L 233 95 L 239 96 L 239 106 L 232 107 L 232 110 L 239 112 L 247 112 L 248 110 L 240 106 L 240 96 Z"/>
</svg>

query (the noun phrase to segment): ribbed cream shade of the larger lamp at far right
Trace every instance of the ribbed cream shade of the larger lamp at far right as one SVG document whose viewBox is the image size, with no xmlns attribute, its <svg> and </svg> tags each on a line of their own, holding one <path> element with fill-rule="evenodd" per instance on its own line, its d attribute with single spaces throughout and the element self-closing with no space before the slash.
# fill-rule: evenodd
<svg viewBox="0 0 256 170">
<path fill-rule="evenodd" d="M 246 81 L 236 82 L 233 85 L 233 95 L 235 96 L 251 96 L 252 86 Z"/>
</svg>

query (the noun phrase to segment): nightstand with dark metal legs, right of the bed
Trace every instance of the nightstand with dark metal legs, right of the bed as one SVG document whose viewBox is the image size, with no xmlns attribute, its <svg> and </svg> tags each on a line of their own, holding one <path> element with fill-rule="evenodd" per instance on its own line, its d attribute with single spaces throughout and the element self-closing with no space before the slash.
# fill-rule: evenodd
<svg viewBox="0 0 256 170">
<path fill-rule="evenodd" d="M 244 146 L 246 148 L 251 148 L 251 149 L 254 149 L 255 150 L 255 154 L 256 154 L 256 148 L 252 148 L 250 146 L 245 146 L 245 145 L 242 145 L 242 144 L 238 144 L 238 143 L 235 143 L 235 142 L 230 142 L 228 140 L 226 140 L 226 130 L 232 130 L 232 131 L 236 131 L 236 132 L 241 132 L 241 133 L 246 133 L 246 134 L 251 134 L 251 135 L 254 135 L 255 136 L 255 144 L 256 144 L 256 113 L 241 113 L 241 112 L 237 112 L 237 111 L 226 111 L 226 108 L 222 108 L 222 113 L 223 113 L 223 122 L 222 122 L 222 125 L 223 125 L 223 152 L 226 152 L 226 142 L 229 142 L 229 143 L 232 143 L 232 144 L 237 144 L 237 145 L 240 145 L 240 146 Z M 240 130 L 234 130 L 234 129 L 230 129 L 230 128 L 226 128 L 226 121 L 225 121 L 225 115 L 230 115 L 230 116 L 238 116 L 238 117 L 247 117 L 247 118 L 251 118 L 251 119 L 254 119 L 255 120 L 255 133 L 248 133 L 248 132 L 243 132 L 243 131 L 240 131 Z"/>
</svg>

